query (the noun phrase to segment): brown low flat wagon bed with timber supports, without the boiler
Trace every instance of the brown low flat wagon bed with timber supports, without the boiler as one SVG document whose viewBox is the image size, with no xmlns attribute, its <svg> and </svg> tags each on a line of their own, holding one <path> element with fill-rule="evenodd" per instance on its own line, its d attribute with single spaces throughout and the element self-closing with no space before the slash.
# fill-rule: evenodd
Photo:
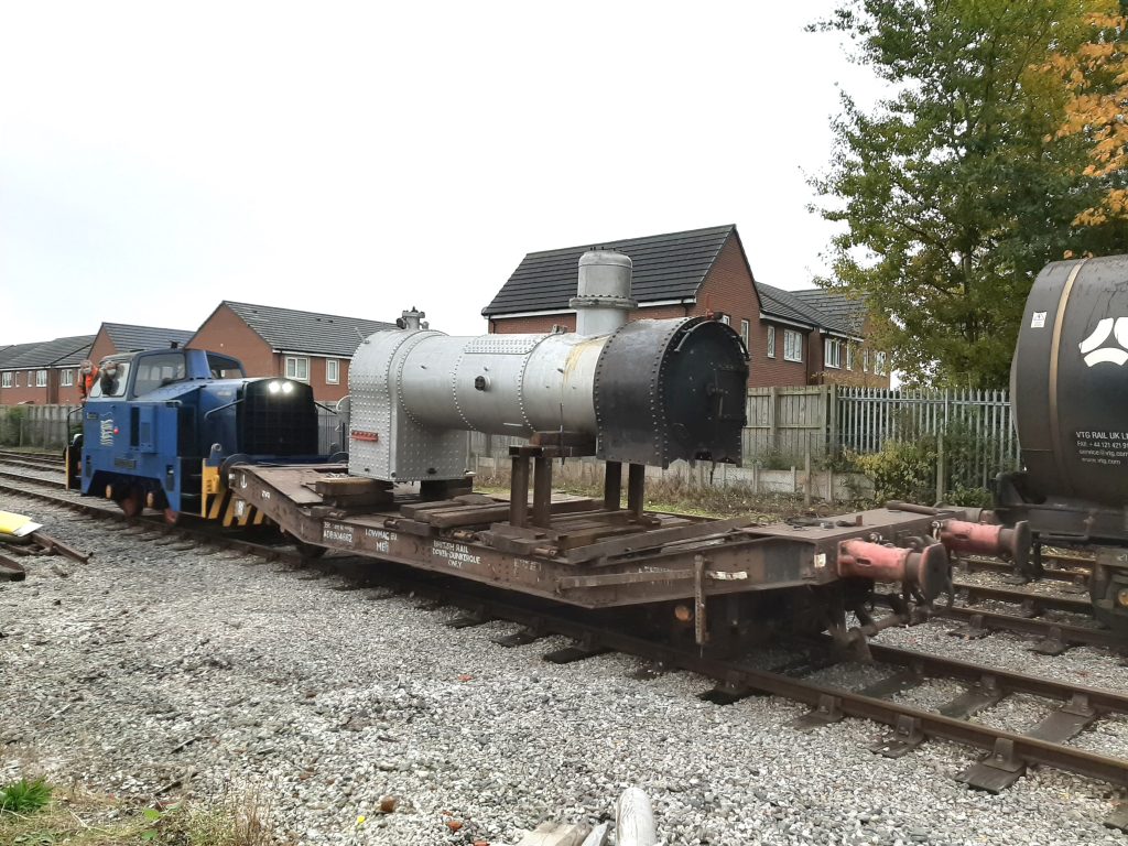
<svg viewBox="0 0 1128 846">
<path fill-rule="evenodd" d="M 752 527 L 747 517 L 650 514 L 642 508 L 643 467 L 628 466 L 623 508 L 624 474 L 615 462 L 608 465 L 601 502 L 552 501 L 550 462 L 558 455 L 514 448 L 509 501 L 473 493 L 432 501 L 416 492 L 358 493 L 359 481 L 346 477 L 342 465 L 235 465 L 227 484 L 246 509 L 262 511 L 305 545 L 590 609 L 693 603 L 695 618 L 703 616 L 708 597 L 837 588 L 844 541 L 925 543 L 936 520 L 935 513 L 878 509 L 852 521 Z M 337 487 L 345 493 L 335 494 Z M 353 504 L 358 497 L 382 502 Z"/>
</svg>

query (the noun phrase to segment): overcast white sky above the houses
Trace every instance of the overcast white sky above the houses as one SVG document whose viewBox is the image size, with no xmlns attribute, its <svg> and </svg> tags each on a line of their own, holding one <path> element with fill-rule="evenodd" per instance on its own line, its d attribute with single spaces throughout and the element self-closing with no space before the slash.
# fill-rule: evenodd
<svg viewBox="0 0 1128 846">
<path fill-rule="evenodd" d="M 802 288 L 837 85 L 793 3 L 6 3 L 0 344 L 222 299 L 485 329 L 532 250 L 737 223 Z"/>
</svg>

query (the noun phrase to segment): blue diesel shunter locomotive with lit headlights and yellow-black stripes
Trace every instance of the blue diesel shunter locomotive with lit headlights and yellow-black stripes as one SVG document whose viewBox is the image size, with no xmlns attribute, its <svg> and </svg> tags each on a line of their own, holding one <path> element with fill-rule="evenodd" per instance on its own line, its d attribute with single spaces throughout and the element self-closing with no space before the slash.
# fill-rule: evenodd
<svg viewBox="0 0 1128 846">
<path fill-rule="evenodd" d="M 130 515 L 160 509 L 226 526 L 261 522 L 226 490 L 224 464 L 324 460 L 312 389 L 248 379 L 243 364 L 205 350 L 152 350 L 103 360 L 68 450 L 68 485 L 114 500 Z"/>
</svg>

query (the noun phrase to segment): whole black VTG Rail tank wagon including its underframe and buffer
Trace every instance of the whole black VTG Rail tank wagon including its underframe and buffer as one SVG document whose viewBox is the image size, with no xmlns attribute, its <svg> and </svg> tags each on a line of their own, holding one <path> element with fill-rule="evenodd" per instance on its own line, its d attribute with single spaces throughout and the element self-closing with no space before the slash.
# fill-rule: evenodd
<svg viewBox="0 0 1128 846">
<path fill-rule="evenodd" d="M 1091 547 L 1095 616 L 1128 633 L 1128 256 L 1055 262 L 1034 281 L 1011 368 L 1020 473 L 995 511 L 1043 544 Z"/>
</svg>

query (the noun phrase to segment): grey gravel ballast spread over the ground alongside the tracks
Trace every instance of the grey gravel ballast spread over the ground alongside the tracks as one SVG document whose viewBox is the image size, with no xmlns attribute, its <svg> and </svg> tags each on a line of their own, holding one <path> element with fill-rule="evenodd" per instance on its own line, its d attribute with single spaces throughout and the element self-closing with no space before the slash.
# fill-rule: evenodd
<svg viewBox="0 0 1128 846">
<path fill-rule="evenodd" d="M 491 638 L 509 624 L 451 629 L 453 609 L 409 597 L 171 552 L 15 496 L 0 509 L 95 552 L 28 559 L 27 581 L 0 584 L 0 783 L 35 769 L 139 801 L 257 788 L 280 834 L 309 844 L 512 844 L 546 819 L 607 819 L 629 785 L 651 796 L 668 846 L 1128 844 L 1101 825 L 1123 800 L 1105 784 L 1036 769 L 978 793 L 954 781 L 976 758 L 954 744 L 890 760 L 867 750 L 885 733 L 873 723 L 803 733 L 794 703 L 714 705 L 696 698 L 708 680 L 635 680 L 628 656 L 550 664 L 541 655 L 561 638 L 502 649 Z M 935 624 L 888 634 L 978 660 L 999 637 L 960 642 Z M 1020 638 L 1002 643 L 1004 667 L 1128 687 L 1098 650 L 1020 664 Z M 1126 731 L 1077 742 L 1122 752 Z"/>
</svg>

